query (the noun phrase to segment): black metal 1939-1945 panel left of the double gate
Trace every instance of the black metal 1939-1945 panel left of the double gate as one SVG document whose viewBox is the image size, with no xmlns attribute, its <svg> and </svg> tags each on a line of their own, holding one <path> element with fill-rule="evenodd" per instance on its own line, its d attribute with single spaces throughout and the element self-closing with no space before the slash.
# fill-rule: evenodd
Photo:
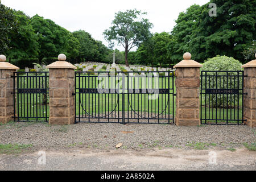
<svg viewBox="0 0 256 182">
<path fill-rule="evenodd" d="M 14 72 L 13 78 L 14 121 L 47 122 L 49 72 Z"/>
</svg>

